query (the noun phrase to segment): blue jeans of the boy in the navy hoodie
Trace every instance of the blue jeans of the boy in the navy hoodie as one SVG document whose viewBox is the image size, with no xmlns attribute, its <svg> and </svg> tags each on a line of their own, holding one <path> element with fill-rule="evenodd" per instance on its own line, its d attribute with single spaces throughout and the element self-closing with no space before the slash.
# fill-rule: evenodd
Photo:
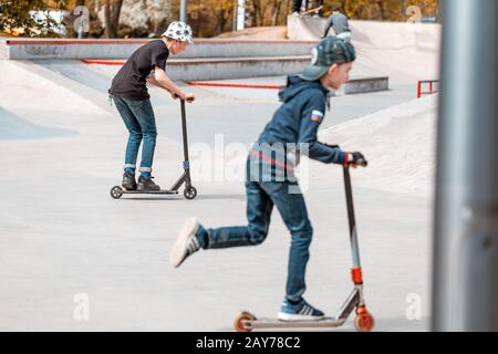
<svg viewBox="0 0 498 354">
<path fill-rule="evenodd" d="M 277 206 L 291 233 L 288 263 L 287 295 L 291 302 L 302 299 L 307 285 L 304 273 L 310 258 L 313 235 L 302 194 L 289 194 L 289 187 L 299 188 L 291 181 L 246 181 L 248 226 L 205 229 L 199 227 L 196 236 L 205 249 L 219 249 L 262 243 L 268 235 L 271 211 Z"/>
</svg>

